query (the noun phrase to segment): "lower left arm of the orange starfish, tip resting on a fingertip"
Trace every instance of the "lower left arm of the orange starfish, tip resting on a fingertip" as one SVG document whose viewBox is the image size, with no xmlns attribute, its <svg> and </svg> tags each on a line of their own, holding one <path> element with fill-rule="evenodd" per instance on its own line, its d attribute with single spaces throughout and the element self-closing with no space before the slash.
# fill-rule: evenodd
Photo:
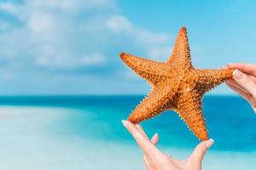
<svg viewBox="0 0 256 170">
<path fill-rule="evenodd" d="M 132 111 L 128 120 L 132 123 L 139 123 L 151 117 L 159 115 L 161 112 L 172 107 L 176 89 L 153 88 L 152 92 Z"/>
</svg>

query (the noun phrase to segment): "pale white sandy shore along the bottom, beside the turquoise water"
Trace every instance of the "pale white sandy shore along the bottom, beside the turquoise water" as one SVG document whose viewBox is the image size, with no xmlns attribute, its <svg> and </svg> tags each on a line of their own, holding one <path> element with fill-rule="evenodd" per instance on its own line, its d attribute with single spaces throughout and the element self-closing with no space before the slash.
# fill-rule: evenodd
<svg viewBox="0 0 256 170">
<path fill-rule="evenodd" d="M 0 108 L 0 169 L 16 170 L 139 170 L 142 153 L 132 142 L 70 137 L 58 130 L 72 110 L 43 107 Z M 73 114 L 75 111 L 72 111 Z M 55 129 L 54 129 L 55 128 Z M 161 146 L 172 156 L 184 158 L 191 150 Z M 256 153 L 210 150 L 206 170 L 253 170 Z"/>
</svg>

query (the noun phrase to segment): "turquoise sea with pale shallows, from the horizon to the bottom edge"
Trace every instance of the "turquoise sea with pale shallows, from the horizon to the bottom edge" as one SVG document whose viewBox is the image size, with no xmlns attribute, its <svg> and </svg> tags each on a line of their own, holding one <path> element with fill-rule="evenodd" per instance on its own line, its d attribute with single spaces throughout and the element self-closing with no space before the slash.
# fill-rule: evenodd
<svg viewBox="0 0 256 170">
<path fill-rule="evenodd" d="M 0 97 L 0 169 L 143 169 L 121 120 L 143 96 Z M 256 115 L 239 97 L 207 96 L 215 140 L 204 169 L 255 169 Z M 160 150 L 185 158 L 199 142 L 175 112 L 142 123 Z"/>
</svg>

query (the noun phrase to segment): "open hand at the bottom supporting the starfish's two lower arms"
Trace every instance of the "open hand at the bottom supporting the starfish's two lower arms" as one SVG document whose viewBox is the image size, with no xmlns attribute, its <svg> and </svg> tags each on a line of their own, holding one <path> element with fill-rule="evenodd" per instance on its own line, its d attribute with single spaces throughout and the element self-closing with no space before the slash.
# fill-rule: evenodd
<svg viewBox="0 0 256 170">
<path fill-rule="evenodd" d="M 180 161 L 172 156 L 167 156 L 155 147 L 159 140 L 157 133 L 149 140 L 143 127 L 139 124 L 134 125 L 128 121 L 122 122 L 143 150 L 143 161 L 147 170 L 200 170 L 202 159 L 213 144 L 212 139 L 201 142 L 195 147 L 188 159 Z"/>
</svg>

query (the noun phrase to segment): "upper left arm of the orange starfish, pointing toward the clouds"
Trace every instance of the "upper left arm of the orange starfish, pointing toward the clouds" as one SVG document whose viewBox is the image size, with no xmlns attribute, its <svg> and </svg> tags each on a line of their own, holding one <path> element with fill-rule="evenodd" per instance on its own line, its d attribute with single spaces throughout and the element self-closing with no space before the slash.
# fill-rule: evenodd
<svg viewBox="0 0 256 170">
<path fill-rule="evenodd" d="M 121 59 L 126 65 L 131 67 L 131 69 L 140 77 L 147 80 L 152 86 L 165 77 L 167 68 L 164 63 L 156 62 L 150 59 L 143 59 L 131 54 L 120 54 Z"/>
</svg>

